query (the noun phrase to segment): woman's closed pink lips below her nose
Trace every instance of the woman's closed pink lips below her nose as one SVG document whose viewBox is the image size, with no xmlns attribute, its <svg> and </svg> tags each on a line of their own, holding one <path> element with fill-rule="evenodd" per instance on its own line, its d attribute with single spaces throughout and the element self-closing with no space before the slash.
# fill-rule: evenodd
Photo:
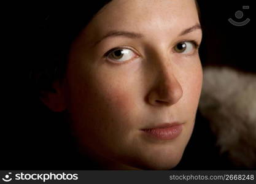
<svg viewBox="0 0 256 184">
<path fill-rule="evenodd" d="M 142 129 L 147 136 L 160 140 L 175 139 L 182 131 L 181 123 L 165 123 L 154 128 Z"/>
</svg>

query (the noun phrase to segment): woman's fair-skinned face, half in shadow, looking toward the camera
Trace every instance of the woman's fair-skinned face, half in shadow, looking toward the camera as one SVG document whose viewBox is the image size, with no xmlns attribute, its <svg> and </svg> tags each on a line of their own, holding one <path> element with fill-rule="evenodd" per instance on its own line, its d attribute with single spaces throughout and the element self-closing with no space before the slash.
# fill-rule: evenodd
<svg viewBox="0 0 256 184">
<path fill-rule="evenodd" d="M 93 158 L 109 169 L 179 163 L 201 93 L 199 24 L 191 0 L 114 0 L 77 37 L 61 90 Z M 174 121 L 179 134 L 142 130 Z"/>
</svg>

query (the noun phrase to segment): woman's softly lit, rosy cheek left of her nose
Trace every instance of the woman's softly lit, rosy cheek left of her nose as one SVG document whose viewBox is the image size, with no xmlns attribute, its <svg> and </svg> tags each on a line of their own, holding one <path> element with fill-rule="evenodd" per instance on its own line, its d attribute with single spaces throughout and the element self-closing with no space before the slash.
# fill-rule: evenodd
<svg viewBox="0 0 256 184">
<path fill-rule="evenodd" d="M 132 66 L 131 66 L 132 65 Z M 112 114 L 129 118 L 139 98 L 139 88 L 133 64 L 127 66 L 103 67 L 96 76 L 96 91 Z M 128 77 L 129 76 L 129 77 Z M 142 97 L 141 97 L 142 98 Z"/>
</svg>

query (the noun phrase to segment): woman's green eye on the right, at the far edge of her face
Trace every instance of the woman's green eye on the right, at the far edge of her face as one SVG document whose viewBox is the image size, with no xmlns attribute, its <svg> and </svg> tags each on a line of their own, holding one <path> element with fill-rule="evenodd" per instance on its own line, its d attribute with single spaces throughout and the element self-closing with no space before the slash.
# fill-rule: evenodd
<svg viewBox="0 0 256 184">
<path fill-rule="evenodd" d="M 194 50 L 198 47 L 198 45 L 193 41 L 186 41 L 186 42 L 179 42 L 177 45 L 175 45 L 174 50 L 177 53 L 182 54 L 192 54 Z"/>
</svg>

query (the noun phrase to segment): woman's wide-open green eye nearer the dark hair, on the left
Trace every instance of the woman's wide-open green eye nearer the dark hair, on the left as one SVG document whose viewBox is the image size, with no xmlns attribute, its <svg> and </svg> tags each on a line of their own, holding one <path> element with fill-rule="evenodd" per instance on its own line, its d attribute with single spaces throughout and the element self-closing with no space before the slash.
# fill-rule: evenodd
<svg viewBox="0 0 256 184">
<path fill-rule="evenodd" d="M 107 54 L 107 58 L 114 61 L 128 61 L 136 57 L 136 54 L 128 48 L 117 48 Z"/>
</svg>

